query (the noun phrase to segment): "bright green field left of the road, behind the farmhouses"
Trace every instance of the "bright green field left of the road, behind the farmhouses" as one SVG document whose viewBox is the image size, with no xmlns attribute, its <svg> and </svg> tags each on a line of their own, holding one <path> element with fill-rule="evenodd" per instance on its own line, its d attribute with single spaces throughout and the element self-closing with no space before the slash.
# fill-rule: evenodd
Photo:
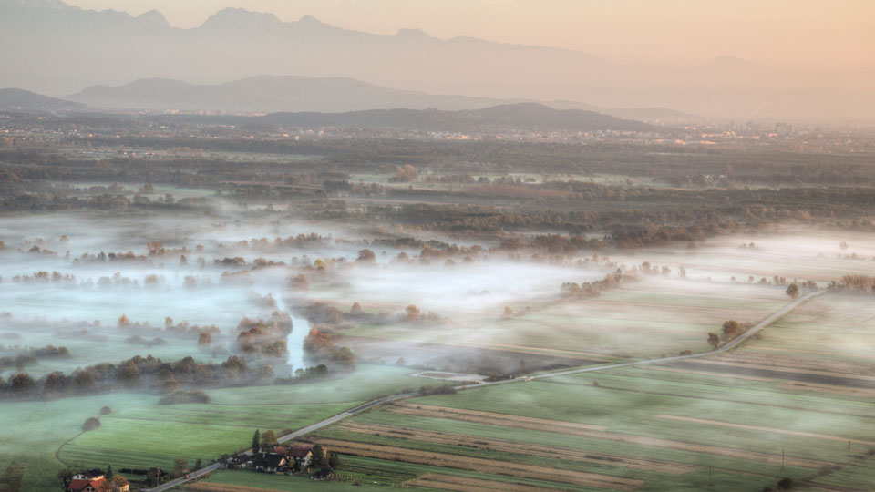
<svg viewBox="0 0 875 492">
<path fill-rule="evenodd" d="M 172 468 L 182 457 L 194 465 L 232 453 L 252 442 L 255 429 L 297 429 L 380 395 L 415 387 L 406 369 L 361 365 L 355 374 L 313 384 L 210 390 L 210 404 L 157 405 L 159 397 L 94 395 L 48 402 L 0 404 L 0 469 L 26 467 L 23 491 L 57 487 L 67 466 Z M 101 427 L 81 433 L 98 416 Z"/>
</svg>

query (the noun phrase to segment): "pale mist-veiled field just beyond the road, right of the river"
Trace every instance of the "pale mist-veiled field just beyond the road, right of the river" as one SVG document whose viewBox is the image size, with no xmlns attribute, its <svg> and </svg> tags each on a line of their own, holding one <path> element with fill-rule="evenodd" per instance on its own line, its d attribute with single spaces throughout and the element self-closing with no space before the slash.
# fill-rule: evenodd
<svg viewBox="0 0 875 492">
<path fill-rule="evenodd" d="M 359 325 L 343 334 L 386 340 L 452 343 L 586 358 L 651 358 L 709 350 L 707 334 L 729 319 L 755 323 L 790 302 L 783 288 L 644 278 L 598 298 L 544 303 L 538 309 L 451 313 L 458 326 Z M 533 304 L 536 305 L 537 304 Z M 549 334 L 548 334 L 549 333 Z M 559 354 L 558 352 L 554 352 Z"/>
</svg>

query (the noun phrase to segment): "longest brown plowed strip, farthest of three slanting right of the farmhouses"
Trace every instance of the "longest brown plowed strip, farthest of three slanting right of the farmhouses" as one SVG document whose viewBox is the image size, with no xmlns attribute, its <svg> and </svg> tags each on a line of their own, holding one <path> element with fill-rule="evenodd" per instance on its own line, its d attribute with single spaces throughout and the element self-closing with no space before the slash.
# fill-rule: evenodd
<svg viewBox="0 0 875 492">
<path fill-rule="evenodd" d="M 728 447 L 708 446 L 695 443 L 685 443 L 681 441 L 672 441 L 661 439 L 658 437 L 632 436 L 629 434 L 620 434 L 615 432 L 605 432 L 602 430 L 592 430 L 584 427 L 570 427 L 568 422 L 544 420 L 544 419 L 529 419 L 529 417 L 516 417 L 514 415 L 505 414 L 490 414 L 489 412 L 476 412 L 475 414 L 468 413 L 468 410 L 460 410 L 458 408 L 448 408 L 442 406 L 429 406 L 413 404 L 397 404 L 390 405 L 387 410 L 397 414 L 418 415 L 432 418 L 448 418 L 453 420 L 461 420 L 465 422 L 474 422 L 478 424 L 501 425 L 507 427 L 517 427 L 523 429 L 539 430 L 544 432 L 554 432 L 557 434 L 566 434 L 582 437 L 592 437 L 595 439 L 605 439 L 610 441 L 618 441 L 627 444 L 638 446 L 654 446 L 677 449 L 680 451 L 689 451 L 692 453 L 704 453 L 706 455 L 728 456 L 739 459 L 747 459 L 759 461 L 762 463 L 771 463 L 775 465 L 781 464 L 780 455 L 767 455 L 765 453 L 757 453 L 754 451 L 742 451 Z M 532 424 L 529 420 L 538 421 L 538 424 Z M 592 427 L 592 426 L 590 426 Z M 788 466 L 798 466 L 801 468 L 815 468 L 831 465 L 826 461 L 817 461 L 813 459 L 787 457 L 784 463 Z"/>
</svg>

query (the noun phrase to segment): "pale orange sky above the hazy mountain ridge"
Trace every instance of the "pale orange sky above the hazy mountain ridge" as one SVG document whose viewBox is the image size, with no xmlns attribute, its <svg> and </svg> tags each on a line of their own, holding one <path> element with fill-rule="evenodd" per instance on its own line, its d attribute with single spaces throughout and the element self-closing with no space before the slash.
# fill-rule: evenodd
<svg viewBox="0 0 875 492">
<path fill-rule="evenodd" d="M 695 64 L 737 56 L 814 70 L 875 67 L 875 0 L 69 0 L 83 8 L 151 9 L 179 27 L 228 6 L 285 21 L 395 34 L 556 46 L 619 63 Z"/>
</svg>

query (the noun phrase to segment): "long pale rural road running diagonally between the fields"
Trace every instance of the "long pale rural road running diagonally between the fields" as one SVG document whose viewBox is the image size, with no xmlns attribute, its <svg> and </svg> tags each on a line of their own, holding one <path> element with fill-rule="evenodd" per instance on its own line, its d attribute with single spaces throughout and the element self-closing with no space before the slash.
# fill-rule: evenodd
<svg viewBox="0 0 875 492">
<path fill-rule="evenodd" d="M 809 299 L 816 297 L 816 296 L 818 296 L 822 293 L 825 293 L 825 292 L 827 292 L 827 291 L 809 292 L 809 293 L 803 295 L 802 297 L 798 298 L 796 301 L 790 302 L 789 304 L 787 304 L 783 308 L 777 310 L 775 313 L 770 314 L 765 320 L 755 324 L 750 329 L 748 329 L 745 333 L 741 333 L 735 339 L 733 339 L 731 342 L 726 343 L 725 345 L 718 347 L 715 350 L 712 350 L 709 352 L 702 352 L 699 354 L 688 354 L 688 355 L 674 355 L 671 357 L 660 357 L 658 359 L 646 359 L 643 361 L 634 361 L 634 362 L 620 363 L 620 364 L 589 365 L 586 367 L 582 367 L 580 369 L 571 369 L 569 371 L 535 374 L 535 375 L 532 375 L 530 377 L 520 377 L 520 378 L 516 378 L 516 379 L 505 379 L 502 381 L 493 381 L 493 382 L 488 382 L 488 383 L 466 384 L 466 385 L 462 385 L 462 386 L 455 386 L 454 389 L 464 390 L 464 389 L 470 389 L 470 388 L 479 388 L 479 387 L 483 387 L 483 386 L 491 386 L 491 385 L 496 385 L 496 384 L 522 383 L 522 382 L 530 381 L 532 379 L 542 379 L 542 378 L 547 378 L 547 377 L 557 377 L 557 376 L 570 375 L 570 374 L 592 373 L 594 371 L 604 371 L 606 369 L 619 369 L 621 367 L 632 367 L 633 365 L 661 364 L 661 363 L 666 363 L 666 362 L 682 361 L 684 359 L 696 359 L 696 358 L 708 357 L 708 356 L 716 355 L 716 354 L 723 354 L 727 351 L 730 351 L 730 350 L 736 348 L 736 346 L 740 345 L 741 343 L 745 343 L 745 341 L 748 338 L 759 333 L 760 331 L 762 331 L 764 328 L 766 328 L 770 324 L 777 322 L 777 320 L 779 320 L 782 317 L 784 317 L 785 315 L 787 315 L 787 313 L 790 313 L 794 309 L 798 308 L 798 306 L 800 304 L 807 302 Z M 303 427 L 301 429 L 294 431 L 292 434 L 286 434 L 285 436 L 282 436 L 279 439 L 277 439 L 277 441 L 279 443 L 284 443 L 286 441 L 290 441 L 290 440 L 295 439 L 297 437 L 310 434 L 311 432 L 313 432 L 315 430 L 319 430 L 326 425 L 332 425 L 335 422 L 338 422 L 338 421 L 343 420 L 347 417 L 355 415 L 355 414 L 357 414 L 363 410 L 366 410 L 372 406 L 381 405 L 381 404 L 384 404 L 386 402 L 391 402 L 391 401 L 395 401 L 395 400 L 403 400 L 405 398 L 411 398 L 411 397 L 417 396 L 417 395 L 419 395 L 419 394 L 415 392 L 415 393 L 402 393 L 399 395 L 389 395 L 389 396 L 384 396 L 382 398 L 377 398 L 376 400 L 372 400 L 372 401 L 367 402 L 365 404 L 358 405 L 355 408 L 351 408 L 351 409 L 349 409 L 341 414 L 330 416 L 324 420 L 316 422 L 313 425 L 307 425 L 306 427 Z M 251 450 L 247 451 L 246 453 L 250 454 Z M 171 480 L 170 482 L 167 482 L 166 484 L 162 484 L 159 487 L 151 488 L 147 492 L 162 492 L 163 490 L 168 490 L 169 488 L 176 487 L 180 484 L 183 484 L 185 482 L 193 480 L 197 477 L 201 477 L 203 475 L 211 473 L 212 471 L 215 471 L 215 470 L 219 469 L 220 467 L 221 467 L 221 464 L 219 464 L 219 463 L 212 464 L 211 466 L 206 466 L 204 468 L 201 468 L 200 470 L 191 472 L 190 474 L 188 474 L 184 477 L 179 477 L 175 480 Z"/>
</svg>

